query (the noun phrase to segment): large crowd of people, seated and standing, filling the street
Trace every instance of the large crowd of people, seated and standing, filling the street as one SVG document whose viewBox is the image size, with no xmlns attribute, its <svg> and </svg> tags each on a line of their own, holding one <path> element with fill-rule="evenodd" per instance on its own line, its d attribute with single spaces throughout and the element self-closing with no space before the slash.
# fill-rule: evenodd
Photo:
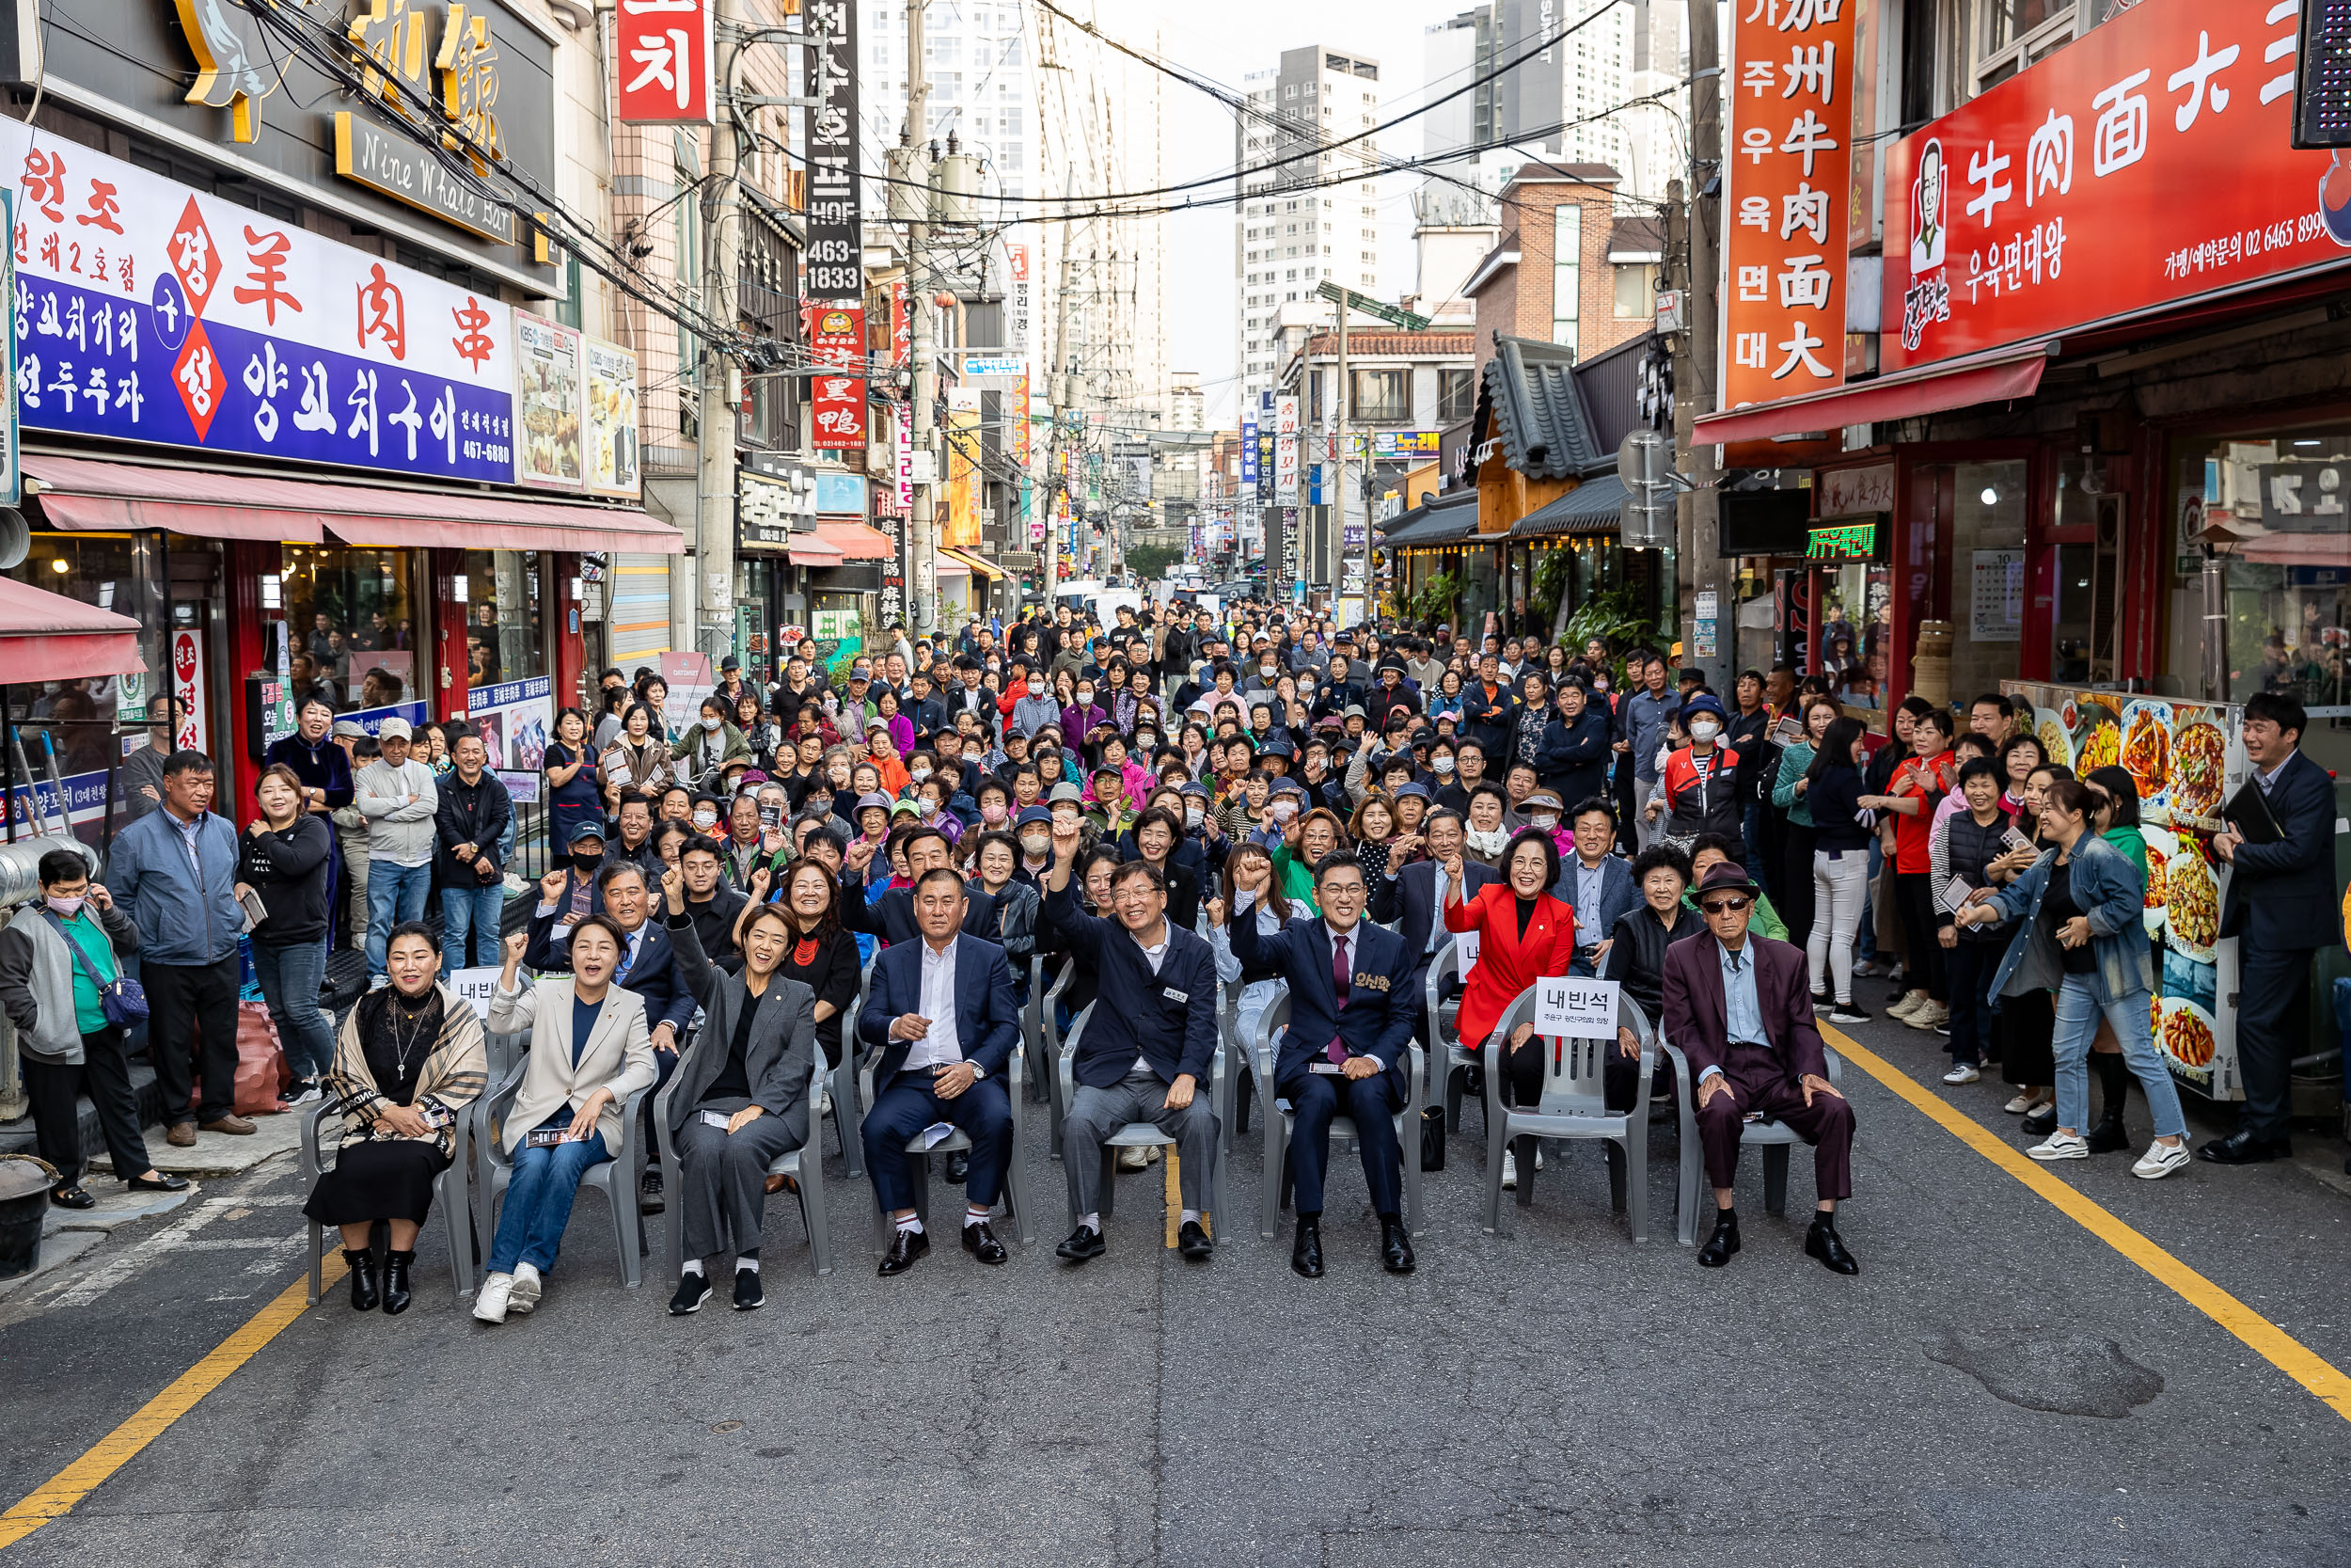
<svg viewBox="0 0 2351 1568">
<path fill-rule="evenodd" d="M 515 1175 L 475 1305 L 484 1321 L 536 1305 L 581 1175 L 647 1135 L 621 1110 L 679 1063 L 668 1131 L 682 1168 L 647 1157 L 637 1194 L 647 1211 L 679 1208 L 689 1258 L 672 1312 L 712 1293 L 717 1255 L 736 1262 L 734 1305 L 759 1305 L 766 1168 L 813 1135 L 813 1065 L 844 1051 L 872 1065 L 863 1152 L 893 1232 L 882 1274 L 931 1246 L 907 1143 L 950 1133 L 962 1246 L 1004 1262 L 1006 1072 L 1039 957 L 1049 983 L 1070 966 L 1056 1023 L 1089 1020 L 1063 1126 L 1070 1265 L 1107 1246 L 1100 1150 L 1138 1121 L 1178 1150 L 1183 1255 L 1213 1253 L 1204 1084 L 1223 990 L 1239 1039 L 1288 997 L 1265 1072 L 1295 1117 L 1293 1267 L 1324 1272 L 1328 1133 L 1347 1117 L 1382 1267 L 1413 1269 L 1401 1175 L 1420 1143 L 1396 1121 L 1411 1044 L 1432 1044 L 1429 966 L 1467 933 L 1479 957 L 1460 978 L 1462 1044 L 1483 1044 L 1538 978 L 1578 973 L 1617 980 L 1688 1053 L 1716 1190 L 1709 1267 L 1740 1248 L 1740 1128 L 1773 1117 L 1815 1145 L 1808 1255 L 1857 1272 L 1834 1222 L 1853 1112 L 1815 1018 L 1869 1020 L 1867 980 L 1888 987 L 1890 1018 L 1947 1041 L 1947 1086 L 1998 1070 L 2034 1159 L 2132 1147 L 2137 1081 L 2154 1135 L 2132 1171 L 2189 1161 L 2149 1034 L 2158 954 L 2139 922 L 2130 773 L 2074 778 L 1998 693 L 1961 712 L 1911 696 L 1878 736 L 1787 665 L 1719 693 L 1650 646 L 1171 604 L 1121 607 L 1107 625 L 1060 607 L 938 639 L 893 628 L 832 665 L 799 642 L 773 682 L 726 658 L 682 731 L 665 710 L 651 670 L 604 670 L 592 710 L 555 717 L 543 799 L 557 865 L 503 943 L 515 811 L 482 743 L 461 733 L 437 755 L 397 719 L 343 733 L 324 701 L 306 701 L 270 750 L 242 827 L 212 813 L 212 764 L 169 755 L 162 809 L 115 844 L 110 898 L 52 896 L 52 924 L 92 957 L 139 947 L 153 1030 L 197 1027 L 202 1112 L 186 1053 L 176 1074 L 160 1065 L 172 1143 L 242 1121 L 226 1110 L 235 1030 L 216 1018 L 235 1004 L 237 905 L 254 910 L 254 966 L 303 1093 L 350 1112 L 310 1213 L 350 1241 L 355 1305 L 407 1302 L 407 1248 L 449 1128 L 484 1091 L 482 1025 L 447 987 L 461 966 L 498 966 L 489 1027 L 529 1034 L 503 1114 Z M 2297 961 L 2306 983 L 2332 905 L 2318 823 L 2332 790 L 2299 759 L 2304 722 L 2290 696 L 2245 705 L 2283 835 L 2215 844 L 2236 863 L 2224 929 L 2262 950 L 2245 961 L 2245 1124 L 2205 1145 L 2217 1164 L 2285 1152 L 2292 1051 L 2276 999 Z M 435 886 L 437 929 L 421 919 Z M 329 926 L 364 945 L 376 985 L 341 1030 L 315 1004 Z M 19 954 L 14 931 L 0 933 L 0 1004 L 28 1030 L 56 1006 L 63 945 L 35 929 Z M 103 978 L 103 961 L 92 969 Z M 73 978 L 78 1009 L 82 987 Z M 1089 1013 L 1096 997 L 1114 1004 Z M 68 1034 L 89 1084 L 113 1084 L 99 1056 L 120 1039 L 61 1025 L 38 1039 L 75 1056 Z M 1606 1088 L 1629 1107 L 1632 1030 L 1617 1048 Z M 1500 1051 L 1500 1093 L 1540 1095 L 1547 1053 L 1531 1027 Z M 1674 1093 L 1662 1067 L 1653 1093 Z M 1117 1164 L 1157 1157 L 1121 1150 Z M 1502 1185 L 1533 1157 L 1505 1154 Z M 118 1171 L 134 1166 L 143 1157 L 115 1150 Z M 71 1192 L 73 1178 L 59 1201 Z M 362 1239 L 374 1220 L 393 1222 L 381 1267 Z"/>
</svg>

